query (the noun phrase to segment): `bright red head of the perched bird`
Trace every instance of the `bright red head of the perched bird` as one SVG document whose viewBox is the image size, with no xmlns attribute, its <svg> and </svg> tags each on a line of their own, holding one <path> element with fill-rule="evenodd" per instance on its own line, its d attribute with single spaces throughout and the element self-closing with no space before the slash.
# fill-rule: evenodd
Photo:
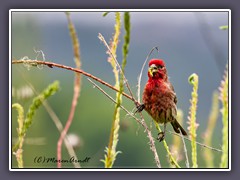
<svg viewBox="0 0 240 180">
<path fill-rule="evenodd" d="M 151 59 L 149 61 L 148 77 L 149 79 L 167 80 L 167 70 L 165 63 L 161 59 Z"/>
</svg>

